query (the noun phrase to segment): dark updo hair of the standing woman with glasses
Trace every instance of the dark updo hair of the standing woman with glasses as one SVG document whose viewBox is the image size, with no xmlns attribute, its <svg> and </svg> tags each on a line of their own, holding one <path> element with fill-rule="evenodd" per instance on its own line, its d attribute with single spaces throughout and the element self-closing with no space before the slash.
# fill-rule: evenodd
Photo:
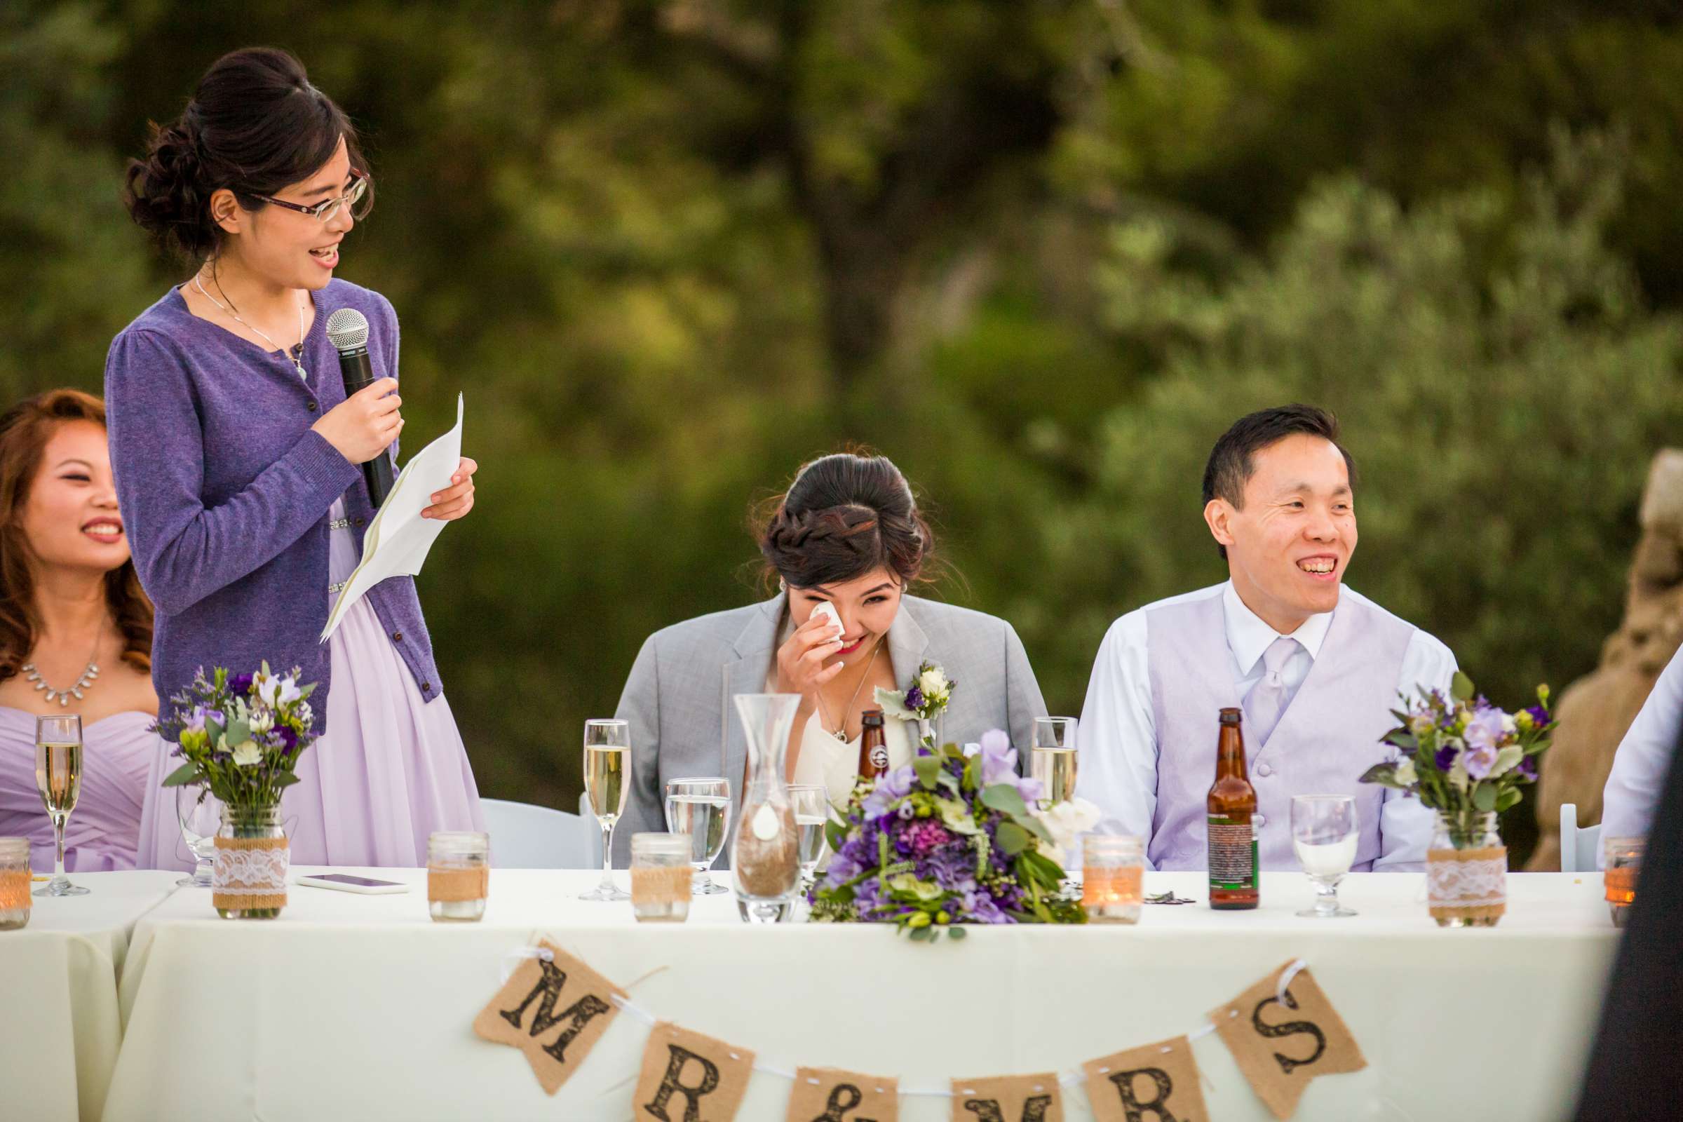
<svg viewBox="0 0 1683 1122">
<path fill-rule="evenodd" d="M 274 47 L 226 54 L 199 81 L 173 124 L 151 124 L 145 160 L 130 160 L 123 202 L 165 251 L 200 262 L 226 237 L 210 217 L 224 187 L 246 210 L 320 172 L 340 138 L 350 167 L 367 177 L 357 130 L 332 98 L 310 84 L 305 66 Z M 358 204 L 367 212 L 374 183 Z"/>
</svg>

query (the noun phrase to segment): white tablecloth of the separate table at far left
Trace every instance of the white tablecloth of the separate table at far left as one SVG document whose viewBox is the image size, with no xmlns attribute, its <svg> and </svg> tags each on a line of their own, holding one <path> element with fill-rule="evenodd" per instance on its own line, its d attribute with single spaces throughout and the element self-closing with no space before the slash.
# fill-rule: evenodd
<svg viewBox="0 0 1683 1122">
<path fill-rule="evenodd" d="M 178 876 L 72 873 L 86 897 L 35 897 L 29 927 L 0 932 L 0 1117 L 99 1117 L 123 1035 L 116 986 L 130 932 Z"/>
</svg>

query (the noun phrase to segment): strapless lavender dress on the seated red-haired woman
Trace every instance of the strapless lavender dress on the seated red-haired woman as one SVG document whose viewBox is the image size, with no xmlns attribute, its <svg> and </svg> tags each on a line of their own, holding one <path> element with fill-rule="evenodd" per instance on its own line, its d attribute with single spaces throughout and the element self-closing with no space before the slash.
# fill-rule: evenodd
<svg viewBox="0 0 1683 1122">
<path fill-rule="evenodd" d="M 82 792 L 64 829 L 64 868 L 135 868 L 141 794 L 158 755 L 151 713 L 113 713 L 82 728 Z M 35 789 L 35 715 L 0 707 L 0 836 L 29 838 L 29 863 L 52 871 L 52 821 Z"/>
</svg>

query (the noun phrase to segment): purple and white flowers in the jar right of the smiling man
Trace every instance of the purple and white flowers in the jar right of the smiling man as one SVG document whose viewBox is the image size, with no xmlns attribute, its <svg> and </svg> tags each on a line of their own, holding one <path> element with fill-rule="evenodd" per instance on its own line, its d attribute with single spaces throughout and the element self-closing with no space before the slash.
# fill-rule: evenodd
<svg viewBox="0 0 1683 1122">
<path fill-rule="evenodd" d="M 1444 816 L 1456 848 L 1478 836 L 1481 814 L 1516 806 L 1520 787 L 1537 782 L 1537 757 L 1548 750 L 1555 728 L 1547 685 L 1537 686 L 1537 705 L 1508 713 L 1478 695 L 1459 671 L 1447 698 L 1422 691 L 1407 710 L 1392 713 L 1402 725 L 1383 742 L 1399 755 L 1370 767 L 1362 782 L 1419 796 Z"/>
</svg>

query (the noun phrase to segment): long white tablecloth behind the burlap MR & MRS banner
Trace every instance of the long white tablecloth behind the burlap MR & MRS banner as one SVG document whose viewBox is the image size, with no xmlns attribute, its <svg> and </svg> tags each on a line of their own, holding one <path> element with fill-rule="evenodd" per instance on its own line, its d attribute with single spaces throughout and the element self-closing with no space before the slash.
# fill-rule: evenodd
<svg viewBox="0 0 1683 1122">
<path fill-rule="evenodd" d="M 1441 930 L 1419 875 L 1355 875 L 1362 915 L 1306 920 L 1298 873 L 1269 873 L 1264 907 L 1148 907 L 1138 927 L 971 929 L 914 944 L 885 927 L 746 927 L 730 897 L 685 925 L 638 925 L 628 903 L 584 903 L 582 871 L 498 870 L 481 924 L 433 924 L 424 871 L 358 897 L 293 886 L 274 922 L 224 922 L 188 890 L 135 932 L 128 1035 L 106 1119 L 608 1119 L 633 1115 L 648 1029 L 619 1016 L 547 1097 L 520 1051 L 471 1021 L 505 954 L 545 932 L 660 1018 L 762 1061 L 949 1077 L 1077 1068 L 1197 1029 L 1203 1013 L 1303 957 L 1368 1058 L 1316 1080 L 1298 1119 L 1560 1119 L 1594 1036 L 1616 930 L 1599 876 L 1510 876 L 1493 930 Z M 624 873 L 619 873 L 621 880 Z M 1146 876 L 1203 900 L 1202 875 Z M 640 981 L 643 979 L 643 981 Z M 634 982 L 634 984 L 633 984 Z M 1217 1036 L 1193 1045 L 1213 1119 L 1267 1119 Z M 783 1119 L 789 1083 L 756 1073 L 741 1119 Z M 1080 1088 L 1067 1115 L 1091 1117 Z M 905 1122 L 949 1117 L 904 1097 Z"/>
</svg>

